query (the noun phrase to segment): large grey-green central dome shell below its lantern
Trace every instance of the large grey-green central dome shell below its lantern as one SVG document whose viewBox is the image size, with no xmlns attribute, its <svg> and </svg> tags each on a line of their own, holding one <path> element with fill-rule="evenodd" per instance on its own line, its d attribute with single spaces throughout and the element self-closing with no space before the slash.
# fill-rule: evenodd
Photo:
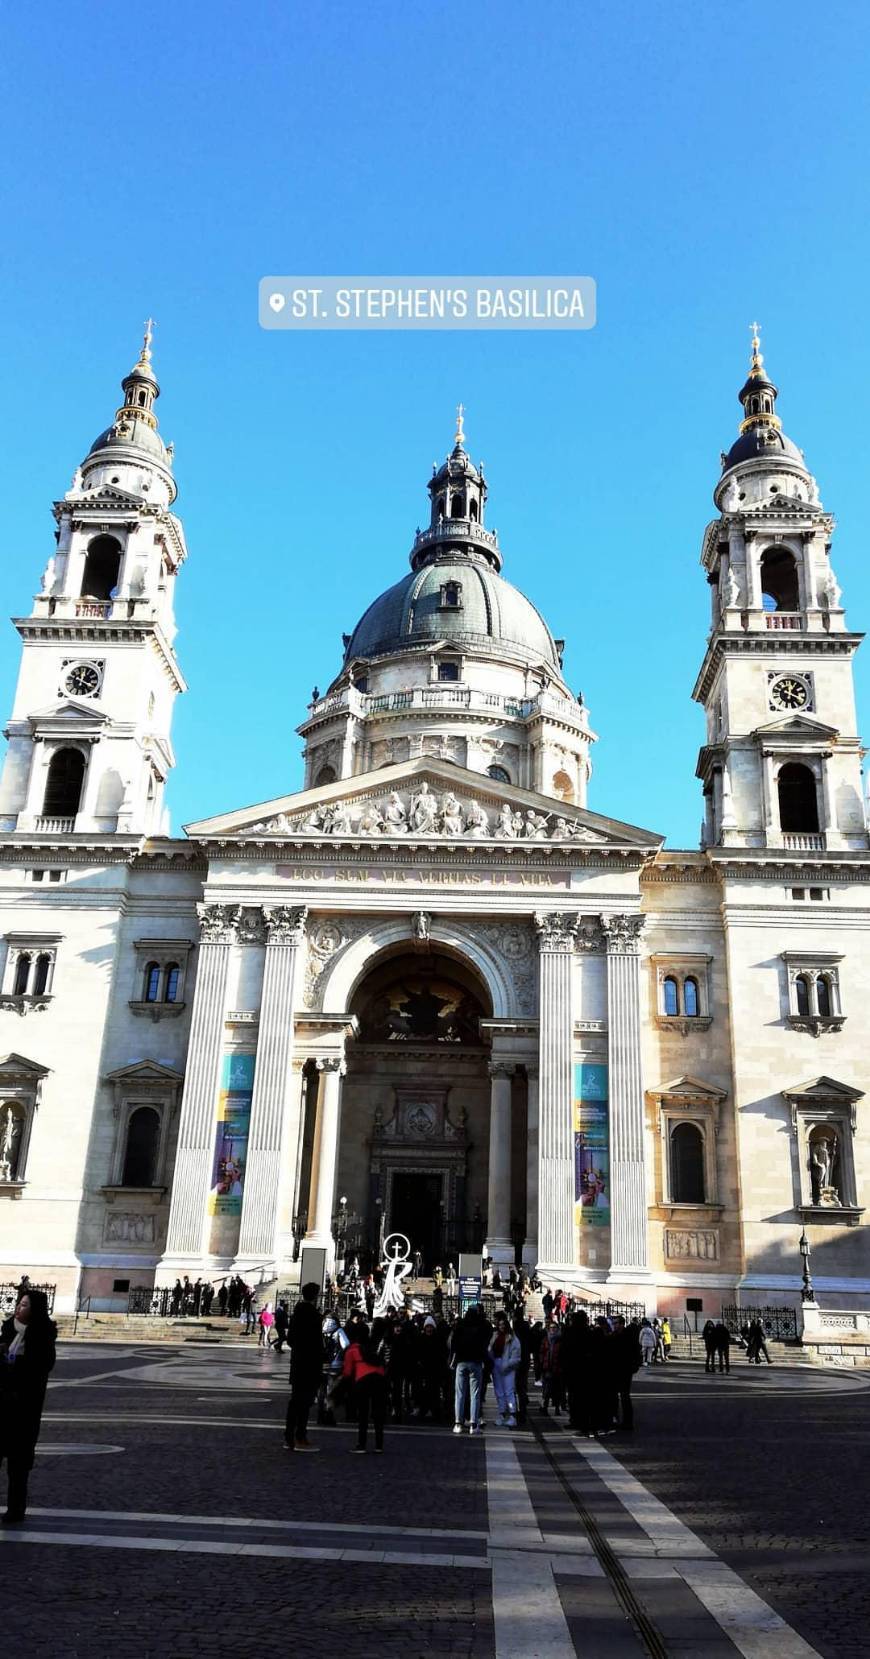
<svg viewBox="0 0 870 1659">
<path fill-rule="evenodd" d="M 458 586 L 458 602 L 445 604 L 445 587 Z M 410 571 L 375 599 L 357 622 L 345 650 L 352 657 L 382 657 L 445 639 L 468 652 L 548 662 L 560 657 L 553 635 L 530 599 L 498 576 L 480 556 L 438 557 Z"/>
</svg>

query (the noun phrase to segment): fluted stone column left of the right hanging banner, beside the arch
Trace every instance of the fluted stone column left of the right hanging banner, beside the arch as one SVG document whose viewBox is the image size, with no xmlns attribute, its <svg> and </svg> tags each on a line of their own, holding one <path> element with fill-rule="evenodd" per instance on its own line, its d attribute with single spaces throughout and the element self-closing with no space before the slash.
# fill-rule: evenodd
<svg viewBox="0 0 870 1659">
<path fill-rule="evenodd" d="M 571 962 L 578 917 L 535 916 L 541 952 L 538 1262 L 574 1266 L 574 1088 Z"/>
</svg>

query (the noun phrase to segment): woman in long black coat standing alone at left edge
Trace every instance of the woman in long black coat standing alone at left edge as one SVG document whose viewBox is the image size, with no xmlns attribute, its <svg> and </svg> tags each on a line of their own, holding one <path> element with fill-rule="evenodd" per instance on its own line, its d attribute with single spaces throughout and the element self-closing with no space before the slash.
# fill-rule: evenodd
<svg viewBox="0 0 870 1659">
<path fill-rule="evenodd" d="M 56 1334 L 43 1291 L 25 1291 L 12 1319 L 0 1327 L 0 1463 L 7 1460 L 8 1477 L 3 1526 L 25 1518 L 27 1481 L 48 1375 L 55 1369 Z"/>
</svg>

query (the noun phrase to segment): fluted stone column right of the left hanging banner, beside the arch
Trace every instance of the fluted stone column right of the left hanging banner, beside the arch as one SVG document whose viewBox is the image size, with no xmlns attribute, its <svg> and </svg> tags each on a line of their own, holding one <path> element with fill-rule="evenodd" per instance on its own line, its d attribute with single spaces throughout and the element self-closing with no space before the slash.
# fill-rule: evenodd
<svg viewBox="0 0 870 1659">
<path fill-rule="evenodd" d="M 266 1264 L 276 1258 L 277 1198 L 286 1126 L 297 1092 L 292 1085 L 294 980 L 307 911 L 266 907 L 266 962 L 259 1007 L 257 1060 L 244 1170 L 239 1258 Z"/>
</svg>

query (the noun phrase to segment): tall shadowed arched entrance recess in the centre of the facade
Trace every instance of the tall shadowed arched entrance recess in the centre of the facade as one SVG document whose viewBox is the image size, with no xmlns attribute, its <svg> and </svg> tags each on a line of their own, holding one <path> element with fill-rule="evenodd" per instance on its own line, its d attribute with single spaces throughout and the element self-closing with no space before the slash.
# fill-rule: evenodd
<svg viewBox="0 0 870 1659">
<path fill-rule="evenodd" d="M 486 1224 L 486 987 L 442 946 L 380 956 L 357 984 L 342 1087 L 339 1194 L 360 1254 L 403 1233 L 425 1272 L 480 1249 Z M 349 1239 L 349 1254 L 354 1239 Z"/>
</svg>

